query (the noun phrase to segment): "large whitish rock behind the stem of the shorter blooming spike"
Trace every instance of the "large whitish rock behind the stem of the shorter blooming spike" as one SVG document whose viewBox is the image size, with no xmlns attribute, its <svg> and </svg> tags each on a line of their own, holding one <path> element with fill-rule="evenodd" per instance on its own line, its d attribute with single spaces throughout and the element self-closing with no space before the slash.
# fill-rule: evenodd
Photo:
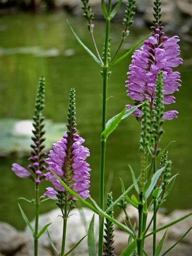
<svg viewBox="0 0 192 256">
<path fill-rule="evenodd" d="M 88 208 L 82 208 L 83 214 L 85 218 L 85 222 L 87 225 L 87 228 L 90 224 L 90 221 L 93 216 L 93 212 Z M 67 233 L 66 233 L 66 252 L 70 250 L 83 236 L 87 234 L 87 230 L 83 224 L 83 220 L 81 218 L 79 209 L 74 209 L 70 212 L 72 215 L 70 218 L 68 218 L 67 222 Z M 61 245 L 62 245 L 62 232 L 63 232 L 63 219 L 59 217 L 61 215 L 60 209 L 54 209 L 52 211 L 49 211 L 48 213 L 42 214 L 39 216 L 39 230 L 45 226 L 45 224 L 52 222 L 52 224 L 49 226 L 48 230 L 51 236 L 51 239 L 53 243 L 55 244 L 55 247 L 58 249 L 58 251 L 61 251 Z M 32 226 L 34 226 L 34 220 L 32 221 Z M 98 230 L 98 215 L 95 215 L 95 233 L 97 233 Z M 97 233 L 98 234 L 98 233 Z M 33 245 L 33 237 L 30 233 L 30 230 L 28 227 L 26 227 L 25 235 L 28 239 L 28 243 L 30 245 Z M 97 237 L 97 235 L 96 235 Z M 47 237 L 47 232 L 45 232 L 38 240 L 38 244 L 40 247 L 47 247 L 51 249 L 51 245 L 49 243 L 49 239 Z M 70 255 L 77 256 L 83 255 L 88 256 L 87 252 L 87 237 L 83 239 L 83 241 L 78 245 L 77 250 L 74 250 L 73 253 Z"/>
</svg>

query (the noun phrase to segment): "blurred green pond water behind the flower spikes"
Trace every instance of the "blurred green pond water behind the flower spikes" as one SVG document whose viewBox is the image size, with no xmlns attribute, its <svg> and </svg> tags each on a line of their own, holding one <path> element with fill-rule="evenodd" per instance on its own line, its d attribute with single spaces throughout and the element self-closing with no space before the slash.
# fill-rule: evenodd
<svg viewBox="0 0 192 256">
<path fill-rule="evenodd" d="M 99 66 L 87 55 L 77 43 L 66 22 L 68 19 L 82 41 L 93 49 L 90 35 L 83 17 L 70 16 L 64 12 L 4 15 L 0 18 L 0 114 L 3 118 L 30 119 L 33 115 L 34 100 L 38 86 L 38 78 L 46 77 L 46 118 L 55 122 L 66 122 L 68 94 L 75 85 L 77 101 L 78 130 L 85 138 L 90 149 L 92 197 L 98 202 L 99 169 L 100 169 L 100 130 L 102 111 L 102 77 Z M 104 22 L 95 22 L 95 37 L 98 48 L 102 50 L 104 41 Z M 111 26 L 112 47 L 118 45 L 122 25 Z M 134 28 L 130 32 L 120 54 L 130 49 L 136 41 L 149 34 L 147 28 Z M 173 36 L 173 35 L 172 35 Z M 169 158 L 173 160 L 173 174 L 180 173 L 175 181 L 171 196 L 164 203 L 169 212 L 174 208 L 189 208 L 191 191 L 191 67 L 190 46 L 181 42 L 181 57 L 184 64 L 177 70 L 181 72 L 183 81 L 180 91 L 175 93 L 177 102 L 167 106 L 167 110 L 177 109 L 179 118 L 166 121 L 161 147 L 170 141 Z M 126 58 L 112 68 L 109 78 L 108 119 L 119 113 L 124 105 L 132 100 L 126 96 L 125 80 L 130 58 Z M 134 117 L 128 117 L 110 135 L 107 141 L 106 181 L 109 173 L 113 173 L 111 190 L 114 198 L 121 193 L 119 177 L 125 186 L 131 184 L 128 164 L 139 173 L 139 125 Z M 11 164 L 18 162 L 27 166 L 27 158 L 9 156 L 0 158 L 1 188 L 1 220 L 22 229 L 25 226 L 17 206 L 17 198 L 34 195 L 31 181 L 20 179 L 11 171 Z M 109 182 L 108 182 L 109 184 Z M 49 184 L 51 185 L 51 184 Z M 48 186 L 41 185 L 41 192 Z M 26 215 L 31 220 L 34 207 L 21 202 Z M 54 201 L 41 205 L 41 213 L 55 207 Z"/>
</svg>

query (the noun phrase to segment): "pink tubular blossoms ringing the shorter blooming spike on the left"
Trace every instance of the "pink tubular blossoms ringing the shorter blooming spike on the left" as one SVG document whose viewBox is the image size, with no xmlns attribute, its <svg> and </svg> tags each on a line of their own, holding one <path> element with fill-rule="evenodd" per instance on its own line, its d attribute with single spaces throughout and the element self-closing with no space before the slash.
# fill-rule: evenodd
<svg viewBox="0 0 192 256">
<path fill-rule="evenodd" d="M 66 166 L 66 164 L 68 164 L 68 161 L 66 162 L 66 158 L 68 158 L 67 136 L 68 135 L 64 135 L 62 140 L 53 143 L 53 150 L 50 151 L 49 158 L 46 159 L 47 164 L 49 164 L 47 170 L 53 171 L 60 179 L 68 183 L 68 186 L 70 186 L 73 191 L 77 192 L 83 199 L 86 199 L 90 196 L 88 188 L 90 187 L 89 172 L 91 169 L 89 168 L 90 164 L 88 164 L 85 159 L 90 156 L 90 152 L 87 147 L 82 145 L 85 140 L 79 137 L 79 135 L 73 134 L 70 179 L 66 177 L 68 174 L 66 174 L 65 170 L 68 169 L 68 167 L 70 168 L 70 166 Z M 46 180 L 51 181 L 58 191 L 65 191 L 64 187 L 53 173 L 48 172 Z M 47 194 L 49 193 L 46 192 L 45 195 Z M 73 197 L 73 199 L 75 198 Z"/>
</svg>

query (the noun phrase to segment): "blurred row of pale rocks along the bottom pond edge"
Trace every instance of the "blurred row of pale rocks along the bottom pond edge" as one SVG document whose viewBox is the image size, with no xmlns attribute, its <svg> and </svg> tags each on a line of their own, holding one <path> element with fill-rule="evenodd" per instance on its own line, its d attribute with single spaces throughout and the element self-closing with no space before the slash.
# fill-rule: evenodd
<svg viewBox="0 0 192 256">
<path fill-rule="evenodd" d="M 127 212 L 130 216 L 132 224 L 138 223 L 138 217 L 136 209 L 132 206 L 128 206 Z M 192 212 L 191 209 L 186 210 L 175 210 L 169 215 L 164 215 L 163 213 L 158 213 L 158 227 L 164 226 L 169 222 L 173 222 L 181 218 L 182 216 Z M 66 241 L 66 251 L 70 250 L 77 241 L 79 241 L 84 235 L 87 234 L 87 228 L 92 218 L 92 211 L 87 208 L 83 208 L 83 215 L 86 221 L 86 224 L 82 222 L 82 213 L 79 209 L 73 210 L 73 217 L 68 219 L 68 228 L 67 228 L 67 239 Z M 47 223 L 52 222 L 49 226 L 49 233 L 53 240 L 53 243 L 60 250 L 61 238 L 62 238 L 62 218 L 58 217 L 60 215 L 60 209 L 53 209 L 48 213 L 44 213 L 39 216 L 39 229 Z M 123 217 L 124 213 L 121 213 L 118 217 L 119 221 L 122 221 L 121 216 Z M 152 213 L 149 213 L 149 220 Z M 34 220 L 31 222 L 34 226 Z M 183 221 L 175 224 L 168 228 L 166 239 L 162 248 L 162 252 L 169 248 L 171 245 L 177 241 L 188 228 L 192 226 L 192 217 L 186 218 Z M 149 230 L 150 232 L 151 230 Z M 165 230 L 157 233 L 157 242 L 160 241 Z M 95 216 L 95 233 L 98 234 L 98 216 Z M 97 235 L 96 235 L 97 236 Z M 115 255 L 119 255 L 127 245 L 127 233 L 119 228 L 115 227 Z M 150 256 L 152 248 L 152 237 L 147 237 L 145 241 L 145 251 Z M 98 241 L 96 241 L 98 242 Z M 192 252 L 192 232 L 188 233 L 184 239 L 174 247 L 169 256 L 191 256 Z M 87 252 L 87 240 L 86 238 L 80 243 L 76 250 L 70 254 L 70 256 L 88 256 Z M 54 251 L 49 243 L 47 233 L 44 233 L 39 239 L 39 256 L 55 256 Z M 0 222 L 0 256 L 33 256 L 33 237 L 30 233 L 28 227 L 24 231 L 16 230 L 13 226 L 6 222 Z"/>
</svg>

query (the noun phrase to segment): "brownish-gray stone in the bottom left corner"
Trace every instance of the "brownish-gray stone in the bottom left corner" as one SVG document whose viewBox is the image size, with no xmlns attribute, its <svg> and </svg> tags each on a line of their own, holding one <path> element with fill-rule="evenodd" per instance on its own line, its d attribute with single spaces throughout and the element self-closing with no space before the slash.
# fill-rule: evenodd
<svg viewBox="0 0 192 256">
<path fill-rule="evenodd" d="M 2 254 L 13 254 L 25 243 L 26 238 L 21 231 L 6 222 L 0 222 L 0 252 Z"/>
</svg>

